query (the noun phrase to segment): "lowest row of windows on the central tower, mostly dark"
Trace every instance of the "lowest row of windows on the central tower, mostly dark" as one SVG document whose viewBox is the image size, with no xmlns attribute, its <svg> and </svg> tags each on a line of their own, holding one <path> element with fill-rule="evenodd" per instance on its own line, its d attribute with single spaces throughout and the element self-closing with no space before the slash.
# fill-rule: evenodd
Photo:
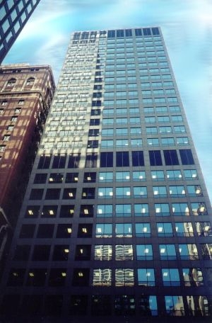
<svg viewBox="0 0 212 323">
<path fill-rule="evenodd" d="M 88 270 L 89 271 L 89 270 Z M 74 277 L 86 283 L 86 271 L 76 269 Z M 40 269 L 40 276 L 44 277 L 45 269 Z M 54 274 L 54 272 L 53 272 Z M 55 273 L 54 275 L 57 275 Z M 127 278 L 127 276 L 126 276 Z M 125 272 L 124 272 L 125 279 Z M 59 279 L 58 279 L 59 280 Z M 63 278 L 61 279 L 63 281 Z M 64 278 L 65 280 L 65 278 Z M 85 284 L 84 283 L 84 284 Z M 78 283 L 79 285 L 83 285 Z M 50 315 L 59 317 L 62 313 L 64 295 L 23 295 L 20 302 L 20 295 L 4 295 L 1 302 L 1 313 L 16 315 Z M 211 302 L 205 295 L 68 295 L 66 306 L 69 315 L 86 316 L 88 314 L 98 317 L 110 317 L 112 315 L 136 315 L 139 317 L 208 317 L 211 316 Z M 162 302 L 162 305 L 160 303 Z M 13 306 L 11 307 L 11 304 Z M 199 306 L 201 305 L 201 307 Z"/>
</svg>

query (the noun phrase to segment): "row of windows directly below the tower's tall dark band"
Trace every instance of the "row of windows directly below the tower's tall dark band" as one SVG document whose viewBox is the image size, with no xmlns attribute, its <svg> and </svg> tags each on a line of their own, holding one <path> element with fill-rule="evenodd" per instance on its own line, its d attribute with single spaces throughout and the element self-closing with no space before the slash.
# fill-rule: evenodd
<svg viewBox="0 0 212 323">
<path fill-rule="evenodd" d="M 34 183 L 46 183 L 47 173 L 37 173 L 35 174 Z M 79 178 L 78 173 L 51 173 L 49 174 L 48 183 L 78 183 Z M 182 181 L 186 180 L 196 180 L 198 179 L 196 169 L 180 169 L 167 170 L 167 171 L 151 171 L 150 172 L 152 181 Z M 100 171 L 96 173 L 95 171 L 84 172 L 83 183 L 109 183 L 109 182 L 129 182 L 129 181 L 146 181 L 146 171 Z M 196 186 L 197 188 L 198 186 Z M 192 193 L 190 191 L 190 193 Z M 198 193 L 198 192 L 197 192 Z"/>
</svg>

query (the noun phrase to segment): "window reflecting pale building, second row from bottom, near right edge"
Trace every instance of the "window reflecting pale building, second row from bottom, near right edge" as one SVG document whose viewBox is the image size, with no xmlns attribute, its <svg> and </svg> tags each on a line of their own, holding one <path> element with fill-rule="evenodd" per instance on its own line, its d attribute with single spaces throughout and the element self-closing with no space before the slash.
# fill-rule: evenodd
<svg viewBox="0 0 212 323">
<path fill-rule="evenodd" d="M 201 268 L 182 268 L 185 286 L 202 286 L 204 285 Z"/>
</svg>

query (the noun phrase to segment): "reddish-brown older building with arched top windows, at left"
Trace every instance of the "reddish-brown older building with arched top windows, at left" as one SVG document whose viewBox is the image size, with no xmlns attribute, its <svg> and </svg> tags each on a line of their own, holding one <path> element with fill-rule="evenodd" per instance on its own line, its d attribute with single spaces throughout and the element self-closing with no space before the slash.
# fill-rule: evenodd
<svg viewBox="0 0 212 323">
<path fill-rule="evenodd" d="M 18 218 L 54 89 L 49 66 L 0 67 L 0 261 Z"/>
</svg>

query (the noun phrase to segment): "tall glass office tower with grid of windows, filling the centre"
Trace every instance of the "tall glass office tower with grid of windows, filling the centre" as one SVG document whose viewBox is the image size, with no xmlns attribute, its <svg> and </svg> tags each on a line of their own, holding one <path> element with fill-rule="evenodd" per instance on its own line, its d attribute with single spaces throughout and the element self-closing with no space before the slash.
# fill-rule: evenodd
<svg viewBox="0 0 212 323">
<path fill-rule="evenodd" d="M 160 28 L 73 33 L 1 316 L 210 322 L 210 215 Z"/>
</svg>

